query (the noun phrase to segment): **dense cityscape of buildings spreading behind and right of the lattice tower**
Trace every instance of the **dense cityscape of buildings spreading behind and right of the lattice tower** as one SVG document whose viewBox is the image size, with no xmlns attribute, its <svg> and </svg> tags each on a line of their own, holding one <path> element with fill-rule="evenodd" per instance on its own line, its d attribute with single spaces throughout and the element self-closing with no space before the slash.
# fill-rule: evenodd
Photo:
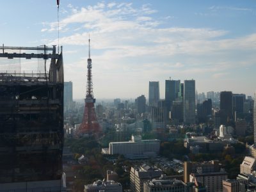
<svg viewBox="0 0 256 192">
<path fill-rule="evenodd" d="M 77 161 L 83 157 L 81 164 L 89 166 L 80 166 L 87 173 L 95 172 L 90 170 L 92 162 L 97 164 L 99 175 L 92 179 L 79 170 L 73 173 L 80 174 L 74 183 L 87 180 L 84 191 L 90 191 L 100 188 L 90 182 L 100 179 L 102 186 L 102 178 L 107 179 L 111 172 L 126 191 L 153 191 L 166 186 L 170 191 L 174 186 L 180 191 L 255 189 L 252 96 L 228 91 L 197 93 L 195 83 L 166 80 L 164 99 L 159 97 L 159 82 L 150 81 L 148 99 L 141 95 L 97 101 L 97 120 L 104 132 L 100 146 L 95 146 L 98 156 L 92 157 L 88 148 L 81 150 L 77 141 L 65 147 L 76 154 Z M 72 100 L 72 82 L 64 84 L 65 137 L 72 142 L 83 118 L 84 103 Z M 135 172 L 148 174 L 138 176 L 140 189 L 134 182 Z M 156 175 L 152 177 L 150 172 Z"/>
</svg>

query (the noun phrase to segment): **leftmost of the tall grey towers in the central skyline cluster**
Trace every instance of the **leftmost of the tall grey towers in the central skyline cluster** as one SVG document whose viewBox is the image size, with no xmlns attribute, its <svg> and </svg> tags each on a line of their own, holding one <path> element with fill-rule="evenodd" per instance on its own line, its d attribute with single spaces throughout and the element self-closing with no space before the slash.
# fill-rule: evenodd
<svg viewBox="0 0 256 192">
<path fill-rule="evenodd" d="M 148 106 L 157 107 L 160 98 L 159 81 L 149 81 Z"/>
</svg>

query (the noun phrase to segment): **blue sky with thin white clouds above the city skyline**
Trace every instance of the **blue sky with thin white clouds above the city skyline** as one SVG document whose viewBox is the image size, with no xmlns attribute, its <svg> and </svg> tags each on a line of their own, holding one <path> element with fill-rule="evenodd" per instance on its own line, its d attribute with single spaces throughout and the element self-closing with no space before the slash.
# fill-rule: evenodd
<svg viewBox="0 0 256 192">
<path fill-rule="evenodd" d="M 0 15 L 1 44 L 58 45 L 55 0 L 0 1 Z M 195 79 L 198 93 L 256 90 L 255 0 L 60 0 L 59 20 L 74 99 L 86 94 L 89 33 L 95 98 L 148 97 L 159 81 L 164 99 L 170 77 Z"/>
</svg>

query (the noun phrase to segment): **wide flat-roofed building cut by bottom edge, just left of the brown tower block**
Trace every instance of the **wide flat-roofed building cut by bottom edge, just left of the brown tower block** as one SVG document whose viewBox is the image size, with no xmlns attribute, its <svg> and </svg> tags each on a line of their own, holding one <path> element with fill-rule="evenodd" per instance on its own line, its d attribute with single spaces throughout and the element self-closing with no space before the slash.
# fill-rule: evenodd
<svg viewBox="0 0 256 192">
<path fill-rule="evenodd" d="M 186 192 L 186 189 L 186 184 L 184 184 L 184 182 L 182 182 L 181 180 L 153 179 L 149 182 L 144 182 L 143 192 Z"/>
</svg>

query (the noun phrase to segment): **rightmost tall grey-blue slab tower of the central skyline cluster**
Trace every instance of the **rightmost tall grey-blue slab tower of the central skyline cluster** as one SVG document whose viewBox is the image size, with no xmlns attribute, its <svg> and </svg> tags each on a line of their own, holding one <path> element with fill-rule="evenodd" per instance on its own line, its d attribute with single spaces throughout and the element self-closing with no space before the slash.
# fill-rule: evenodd
<svg viewBox="0 0 256 192">
<path fill-rule="evenodd" d="M 184 123 L 195 124 L 195 80 L 184 81 Z"/>
</svg>

